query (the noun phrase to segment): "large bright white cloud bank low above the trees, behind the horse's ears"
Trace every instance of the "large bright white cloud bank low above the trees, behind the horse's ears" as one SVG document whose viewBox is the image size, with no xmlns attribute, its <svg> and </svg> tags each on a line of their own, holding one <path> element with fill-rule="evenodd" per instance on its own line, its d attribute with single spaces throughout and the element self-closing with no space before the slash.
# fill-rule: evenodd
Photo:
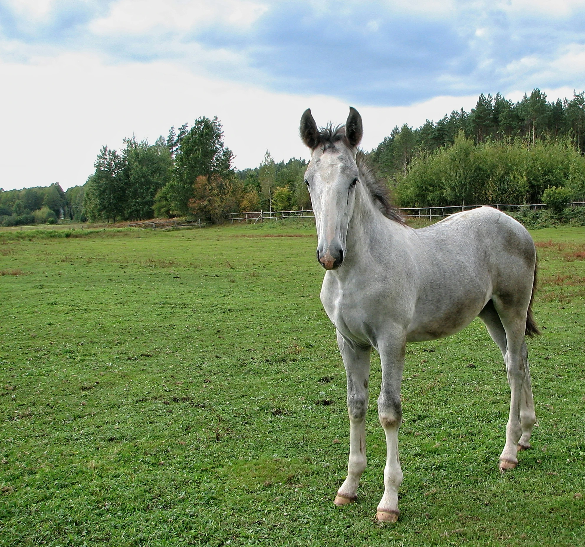
<svg viewBox="0 0 585 547">
<path fill-rule="evenodd" d="M 343 123 L 348 106 L 324 95 L 264 91 L 193 75 L 171 63 L 109 66 L 88 54 L 37 59 L 35 64 L 0 63 L 5 85 L 0 150 L 0 187 L 22 188 L 59 181 L 84 184 L 102 145 L 122 146 L 136 133 L 154 142 L 171 125 L 217 115 L 238 168 L 257 166 L 266 150 L 277 160 L 308 158 L 298 123 L 311 108 L 319 125 Z M 426 118 L 472 108 L 476 97 L 436 97 L 412 106 L 373 108 L 355 104 L 363 116 L 364 149 L 389 135 L 394 125 L 419 126 Z"/>
</svg>

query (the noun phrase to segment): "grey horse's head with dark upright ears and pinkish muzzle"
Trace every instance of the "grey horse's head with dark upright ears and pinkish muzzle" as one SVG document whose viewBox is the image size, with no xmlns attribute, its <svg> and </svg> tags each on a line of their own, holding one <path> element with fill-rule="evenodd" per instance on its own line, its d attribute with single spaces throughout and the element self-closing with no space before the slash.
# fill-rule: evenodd
<svg viewBox="0 0 585 547">
<path fill-rule="evenodd" d="M 319 130 L 308 108 L 301 117 L 300 132 L 311 149 L 305 183 L 315 214 L 317 260 L 326 270 L 335 270 L 345 256 L 347 227 L 360 181 L 356 154 L 363 134 L 362 116 L 350 107 L 345 126 Z"/>
</svg>

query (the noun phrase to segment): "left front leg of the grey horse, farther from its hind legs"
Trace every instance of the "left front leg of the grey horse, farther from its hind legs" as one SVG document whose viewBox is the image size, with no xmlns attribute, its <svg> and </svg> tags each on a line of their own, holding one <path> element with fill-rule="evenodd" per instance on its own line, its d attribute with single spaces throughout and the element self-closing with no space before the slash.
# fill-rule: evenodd
<svg viewBox="0 0 585 547">
<path fill-rule="evenodd" d="M 366 469 L 366 410 L 371 348 L 359 348 L 337 333 L 339 350 L 347 375 L 349 414 L 349 462 L 347 477 L 335 496 L 335 505 L 347 505 L 357 498 L 357 486 Z"/>
</svg>

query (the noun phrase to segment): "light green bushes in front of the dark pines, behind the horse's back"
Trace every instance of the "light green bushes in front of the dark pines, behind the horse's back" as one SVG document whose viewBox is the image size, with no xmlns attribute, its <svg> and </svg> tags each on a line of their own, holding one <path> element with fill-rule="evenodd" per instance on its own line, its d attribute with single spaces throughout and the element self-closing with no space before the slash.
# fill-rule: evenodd
<svg viewBox="0 0 585 547">
<path fill-rule="evenodd" d="M 528 149 L 521 140 L 474 145 L 460 134 L 450 147 L 419 153 L 394 183 L 402 207 L 538 203 L 547 187 L 566 187 L 580 201 L 585 159 L 566 141 Z"/>
</svg>

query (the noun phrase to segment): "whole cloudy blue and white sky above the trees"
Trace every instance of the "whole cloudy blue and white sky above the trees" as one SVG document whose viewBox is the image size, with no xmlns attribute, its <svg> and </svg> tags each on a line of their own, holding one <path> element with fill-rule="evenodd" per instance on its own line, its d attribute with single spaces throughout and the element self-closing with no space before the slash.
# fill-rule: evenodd
<svg viewBox="0 0 585 547">
<path fill-rule="evenodd" d="M 0 0 L 0 187 L 84 184 L 99 149 L 218 116 L 235 167 L 308 159 L 363 117 L 366 150 L 480 93 L 585 90 L 585 0 Z"/>
</svg>

